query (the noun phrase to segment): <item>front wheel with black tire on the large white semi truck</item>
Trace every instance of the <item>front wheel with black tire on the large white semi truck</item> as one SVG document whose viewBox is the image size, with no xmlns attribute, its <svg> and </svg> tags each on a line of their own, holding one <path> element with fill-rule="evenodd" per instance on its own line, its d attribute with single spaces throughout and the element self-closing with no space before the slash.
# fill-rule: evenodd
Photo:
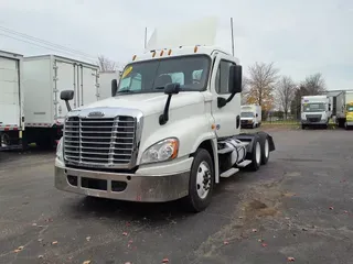
<svg viewBox="0 0 353 264">
<path fill-rule="evenodd" d="M 201 179 L 203 179 L 203 182 L 201 182 Z M 184 198 L 188 211 L 201 212 L 206 209 L 212 200 L 213 186 L 214 167 L 212 157 L 206 150 L 199 148 L 191 166 L 189 196 Z"/>
</svg>

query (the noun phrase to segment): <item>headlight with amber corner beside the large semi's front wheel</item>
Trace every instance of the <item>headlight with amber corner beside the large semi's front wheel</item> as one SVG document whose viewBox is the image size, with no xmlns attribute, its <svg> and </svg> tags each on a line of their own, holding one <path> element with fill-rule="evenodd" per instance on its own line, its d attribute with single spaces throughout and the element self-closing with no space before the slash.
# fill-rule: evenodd
<svg viewBox="0 0 353 264">
<path fill-rule="evenodd" d="M 141 164 L 165 162 L 178 156 L 179 141 L 178 139 L 167 139 L 157 142 L 147 148 L 141 158 Z"/>
</svg>

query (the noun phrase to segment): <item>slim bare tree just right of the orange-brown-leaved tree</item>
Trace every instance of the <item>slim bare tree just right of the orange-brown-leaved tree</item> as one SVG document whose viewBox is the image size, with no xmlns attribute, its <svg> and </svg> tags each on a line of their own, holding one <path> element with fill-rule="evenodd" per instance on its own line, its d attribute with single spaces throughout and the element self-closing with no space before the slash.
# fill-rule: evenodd
<svg viewBox="0 0 353 264">
<path fill-rule="evenodd" d="M 290 103 L 296 96 L 296 84 L 289 76 L 282 76 L 276 85 L 276 98 L 280 109 L 285 113 L 285 119 L 288 117 Z"/>
</svg>

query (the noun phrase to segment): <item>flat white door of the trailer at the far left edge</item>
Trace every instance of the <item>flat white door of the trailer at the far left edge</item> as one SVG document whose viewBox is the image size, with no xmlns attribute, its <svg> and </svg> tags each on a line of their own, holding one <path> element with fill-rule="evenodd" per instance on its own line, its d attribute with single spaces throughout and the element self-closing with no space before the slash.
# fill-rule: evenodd
<svg viewBox="0 0 353 264">
<path fill-rule="evenodd" d="M 21 125 L 19 61 L 0 57 L 0 127 Z"/>
</svg>

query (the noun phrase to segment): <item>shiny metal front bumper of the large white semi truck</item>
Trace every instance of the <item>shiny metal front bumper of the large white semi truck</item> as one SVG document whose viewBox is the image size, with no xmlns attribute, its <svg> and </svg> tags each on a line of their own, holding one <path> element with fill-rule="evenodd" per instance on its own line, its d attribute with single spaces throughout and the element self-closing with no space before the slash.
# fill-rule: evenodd
<svg viewBox="0 0 353 264">
<path fill-rule="evenodd" d="M 191 164 L 192 161 L 188 161 Z M 165 170 L 169 170 L 165 168 Z M 190 169 L 165 175 L 116 174 L 65 167 L 55 162 L 55 187 L 117 200 L 161 202 L 189 195 Z"/>
</svg>

